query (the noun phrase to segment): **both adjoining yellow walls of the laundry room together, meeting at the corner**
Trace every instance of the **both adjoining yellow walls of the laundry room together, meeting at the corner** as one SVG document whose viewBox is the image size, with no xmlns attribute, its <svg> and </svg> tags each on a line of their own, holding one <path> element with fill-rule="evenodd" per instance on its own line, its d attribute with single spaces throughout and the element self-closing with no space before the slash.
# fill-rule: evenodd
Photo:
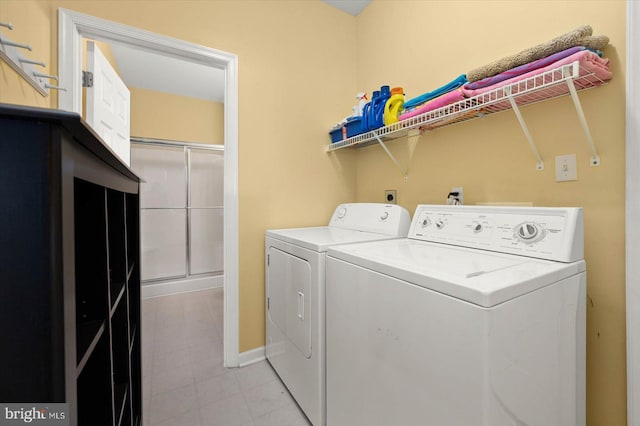
<svg viewBox="0 0 640 426">
<path fill-rule="evenodd" d="M 108 0 L 0 0 L 0 20 L 16 25 L 12 37 L 21 28 L 15 38 L 33 44 L 35 56 L 57 64 L 58 7 L 238 55 L 240 351 L 264 344 L 267 228 L 326 223 L 337 203 L 382 201 L 384 189 L 397 189 L 410 211 L 443 202 L 452 186 L 464 187 L 468 204 L 583 206 L 588 424 L 625 424 L 624 1 L 374 0 L 353 18 L 315 0 L 141 0 L 126 8 Z M 588 166 L 566 97 L 523 110 L 542 172 L 510 112 L 428 132 L 414 151 L 392 142 L 409 167 L 407 182 L 378 147 L 322 150 L 326 130 L 359 90 L 388 83 L 418 95 L 584 24 L 611 38 L 605 55 L 614 79 L 580 94 L 600 167 Z M 0 102 L 55 107 L 55 94 L 43 100 L 29 88 L 0 65 Z M 556 183 L 554 156 L 570 153 L 579 180 Z"/>
</svg>

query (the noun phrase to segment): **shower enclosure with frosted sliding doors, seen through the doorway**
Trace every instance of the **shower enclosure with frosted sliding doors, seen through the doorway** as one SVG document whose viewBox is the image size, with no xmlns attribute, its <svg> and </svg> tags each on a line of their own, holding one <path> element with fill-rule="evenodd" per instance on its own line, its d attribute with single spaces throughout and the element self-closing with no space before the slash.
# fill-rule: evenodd
<svg viewBox="0 0 640 426">
<path fill-rule="evenodd" d="M 223 285 L 224 146 L 131 138 L 142 296 Z"/>
</svg>

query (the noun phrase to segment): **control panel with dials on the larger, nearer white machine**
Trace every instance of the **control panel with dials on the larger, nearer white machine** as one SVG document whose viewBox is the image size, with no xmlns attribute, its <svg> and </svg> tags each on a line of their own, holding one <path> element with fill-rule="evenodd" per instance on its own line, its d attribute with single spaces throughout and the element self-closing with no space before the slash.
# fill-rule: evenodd
<svg viewBox="0 0 640 426">
<path fill-rule="evenodd" d="M 582 227 L 580 208 L 419 205 L 409 238 L 570 262 Z"/>
</svg>

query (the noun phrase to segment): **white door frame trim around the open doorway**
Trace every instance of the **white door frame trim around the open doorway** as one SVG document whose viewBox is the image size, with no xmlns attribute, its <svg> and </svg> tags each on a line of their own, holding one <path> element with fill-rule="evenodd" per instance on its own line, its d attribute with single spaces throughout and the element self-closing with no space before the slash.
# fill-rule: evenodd
<svg viewBox="0 0 640 426">
<path fill-rule="evenodd" d="M 159 55 L 225 71 L 224 96 L 224 365 L 238 367 L 238 57 L 209 47 L 106 21 L 58 11 L 58 108 L 82 113 L 82 38 L 117 41 Z"/>
</svg>

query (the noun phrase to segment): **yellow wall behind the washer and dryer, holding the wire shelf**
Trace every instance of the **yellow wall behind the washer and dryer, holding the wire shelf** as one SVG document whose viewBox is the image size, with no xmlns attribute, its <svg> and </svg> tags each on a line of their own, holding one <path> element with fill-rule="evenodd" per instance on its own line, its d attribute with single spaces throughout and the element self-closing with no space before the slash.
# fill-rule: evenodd
<svg viewBox="0 0 640 426">
<path fill-rule="evenodd" d="M 624 1 L 374 1 L 357 18 L 361 90 L 386 83 L 403 86 L 407 98 L 581 25 L 610 37 L 604 53 L 613 80 L 579 95 L 601 166 L 589 166 L 584 133 L 564 97 L 522 111 L 544 171 L 536 171 L 515 115 L 504 112 L 427 132 L 411 158 L 406 139 L 391 142 L 408 165 L 407 182 L 380 147 L 358 151 L 356 178 L 358 201 L 382 201 L 385 189 L 397 189 L 410 211 L 443 203 L 453 186 L 464 187 L 467 204 L 584 207 L 587 413 L 589 425 L 602 426 L 626 424 L 625 19 Z M 554 157 L 571 153 L 578 181 L 556 183 Z"/>
</svg>

